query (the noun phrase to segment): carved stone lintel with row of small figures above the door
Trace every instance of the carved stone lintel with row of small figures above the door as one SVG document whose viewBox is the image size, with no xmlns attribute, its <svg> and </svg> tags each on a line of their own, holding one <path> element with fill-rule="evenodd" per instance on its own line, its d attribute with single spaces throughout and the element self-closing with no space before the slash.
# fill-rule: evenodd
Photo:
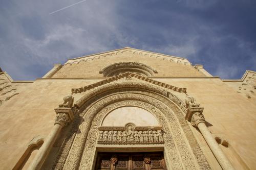
<svg viewBox="0 0 256 170">
<path fill-rule="evenodd" d="M 164 143 L 162 127 L 99 127 L 99 144 L 160 144 Z"/>
</svg>

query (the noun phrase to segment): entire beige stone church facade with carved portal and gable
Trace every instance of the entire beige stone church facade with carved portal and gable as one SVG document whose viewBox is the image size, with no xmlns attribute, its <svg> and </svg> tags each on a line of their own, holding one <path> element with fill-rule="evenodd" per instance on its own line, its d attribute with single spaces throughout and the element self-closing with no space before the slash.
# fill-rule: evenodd
<svg viewBox="0 0 256 170">
<path fill-rule="evenodd" d="M 0 70 L 0 169 L 254 169 L 256 72 L 131 47 L 35 81 Z"/>
</svg>

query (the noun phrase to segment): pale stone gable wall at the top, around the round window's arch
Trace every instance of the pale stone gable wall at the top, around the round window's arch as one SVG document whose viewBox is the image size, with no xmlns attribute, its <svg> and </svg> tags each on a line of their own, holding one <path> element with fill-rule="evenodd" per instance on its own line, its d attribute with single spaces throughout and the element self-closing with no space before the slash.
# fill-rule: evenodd
<svg viewBox="0 0 256 170">
<path fill-rule="evenodd" d="M 157 70 L 154 77 L 204 77 L 187 59 L 126 47 L 120 50 L 69 59 L 52 78 L 102 77 L 100 70 L 122 62 L 137 62 Z M 151 76 L 149 76 L 151 77 Z"/>
</svg>

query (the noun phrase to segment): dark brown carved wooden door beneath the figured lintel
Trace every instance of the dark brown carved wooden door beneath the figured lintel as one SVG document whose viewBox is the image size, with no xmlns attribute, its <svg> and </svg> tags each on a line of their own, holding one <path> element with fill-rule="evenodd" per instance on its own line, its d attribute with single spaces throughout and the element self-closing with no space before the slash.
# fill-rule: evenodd
<svg viewBox="0 0 256 170">
<path fill-rule="evenodd" d="M 163 153 L 99 153 L 97 170 L 166 170 Z"/>
</svg>

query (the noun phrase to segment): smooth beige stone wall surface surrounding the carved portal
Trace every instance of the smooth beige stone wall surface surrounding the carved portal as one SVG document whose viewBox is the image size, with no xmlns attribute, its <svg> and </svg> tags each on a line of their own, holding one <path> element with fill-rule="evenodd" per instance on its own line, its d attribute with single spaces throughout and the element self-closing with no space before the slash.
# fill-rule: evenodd
<svg viewBox="0 0 256 170">
<path fill-rule="evenodd" d="M 115 57 L 115 56 L 111 56 Z M 146 56 L 144 56 L 146 57 Z M 14 95 L 0 106 L 0 162 L 1 169 L 11 169 L 27 150 L 29 141 L 36 135 L 47 136 L 53 127 L 55 112 L 63 96 L 71 93 L 71 88 L 79 88 L 104 80 L 98 71 L 104 66 L 119 61 L 136 61 L 158 70 L 158 77 L 197 77 L 197 78 L 153 78 L 177 87 L 186 87 L 204 107 L 207 125 L 215 137 L 221 137 L 229 143 L 223 151 L 237 169 L 256 167 L 256 100 L 255 94 L 248 99 L 236 88 L 241 82 L 226 82 L 219 78 L 204 77 L 190 65 L 177 64 L 156 58 L 116 57 L 107 61 L 107 57 L 98 61 L 65 65 L 52 79 L 38 79 L 33 83 L 12 82 L 19 94 Z M 4 75 L 0 75 L 3 76 Z M 84 79 L 54 79 L 74 77 L 99 77 Z M 252 76 L 250 76 L 252 77 Z M 1 77 L 2 78 L 2 77 Z M 6 78 L 5 78 L 6 79 Z M 247 82 L 248 83 L 248 82 Z M 250 84 L 252 85 L 252 84 Z M 252 85 L 253 87 L 253 85 Z M 256 92 L 254 89 L 252 89 Z M 1 94 L 0 94 L 1 95 Z M 75 95 L 75 101 L 83 93 Z M 221 169 L 198 130 L 193 129 L 210 166 Z M 63 138 L 63 136 L 62 136 Z M 58 140 L 58 142 L 61 140 Z M 55 150 L 61 142 L 55 144 Z M 35 154 L 31 154 L 31 158 Z"/>
</svg>

